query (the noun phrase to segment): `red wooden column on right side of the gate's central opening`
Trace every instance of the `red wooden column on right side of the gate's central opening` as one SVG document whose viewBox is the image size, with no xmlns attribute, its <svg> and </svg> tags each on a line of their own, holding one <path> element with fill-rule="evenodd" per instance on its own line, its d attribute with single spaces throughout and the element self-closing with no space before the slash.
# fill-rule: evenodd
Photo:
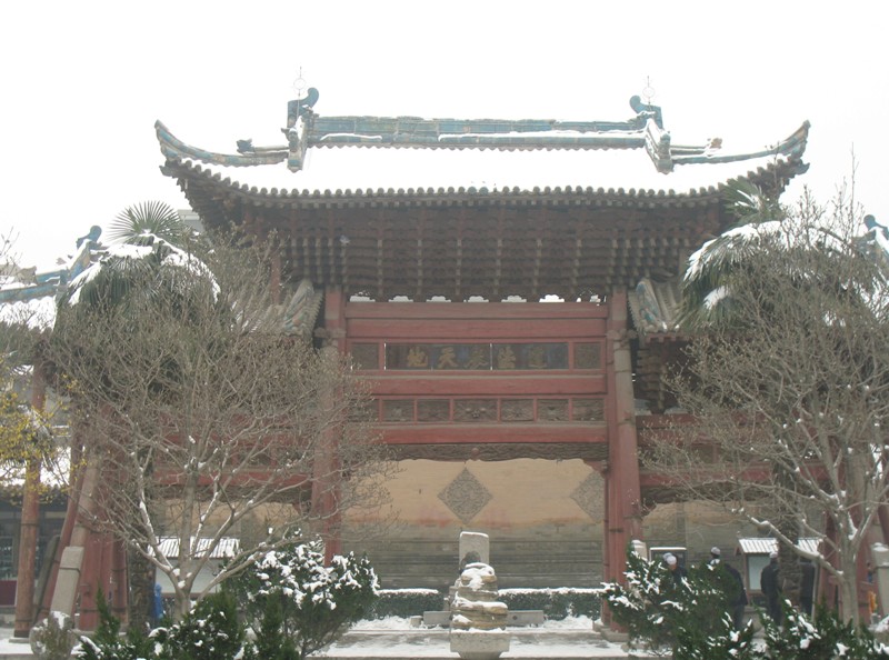
<svg viewBox="0 0 889 660">
<path fill-rule="evenodd" d="M 612 293 L 606 336 L 608 379 L 608 469 L 603 578 L 622 580 L 627 544 L 642 534 L 639 456 L 636 438 L 632 366 L 627 334 L 627 292 Z"/>
</svg>

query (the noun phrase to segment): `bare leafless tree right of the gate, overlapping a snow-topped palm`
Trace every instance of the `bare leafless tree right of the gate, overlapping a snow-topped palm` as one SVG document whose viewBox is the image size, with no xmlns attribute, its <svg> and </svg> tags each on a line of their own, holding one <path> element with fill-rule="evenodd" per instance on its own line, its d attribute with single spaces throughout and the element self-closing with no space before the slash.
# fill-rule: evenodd
<svg viewBox="0 0 889 660">
<path fill-rule="evenodd" d="M 785 548 L 821 537 L 811 559 L 856 621 L 859 557 L 889 494 L 889 241 L 868 222 L 803 199 L 692 257 L 687 291 L 710 292 L 687 299 L 706 309 L 670 384 L 693 423 L 647 449 L 675 488 Z"/>
</svg>

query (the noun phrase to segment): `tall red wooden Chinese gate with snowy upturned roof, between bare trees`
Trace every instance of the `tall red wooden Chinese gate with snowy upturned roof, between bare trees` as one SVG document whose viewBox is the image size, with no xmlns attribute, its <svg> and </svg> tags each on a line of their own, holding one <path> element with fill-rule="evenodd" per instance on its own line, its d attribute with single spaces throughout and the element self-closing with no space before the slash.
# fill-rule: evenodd
<svg viewBox="0 0 889 660">
<path fill-rule="evenodd" d="M 491 536 L 503 586 L 617 578 L 647 491 L 637 412 L 670 406 L 677 277 L 731 224 L 731 181 L 780 191 L 806 170 L 808 123 L 729 152 L 673 144 L 638 98 L 627 121 L 572 122 L 323 117 L 317 99 L 289 104 L 281 147 L 156 128 L 204 227 L 274 236 L 281 303 L 323 293 L 294 328 L 373 383 L 398 520 L 358 549 L 387 587 L 449 583 L 461 529 Z M 344 522 L 350 547 L 380 521 Z"/>
</svg>

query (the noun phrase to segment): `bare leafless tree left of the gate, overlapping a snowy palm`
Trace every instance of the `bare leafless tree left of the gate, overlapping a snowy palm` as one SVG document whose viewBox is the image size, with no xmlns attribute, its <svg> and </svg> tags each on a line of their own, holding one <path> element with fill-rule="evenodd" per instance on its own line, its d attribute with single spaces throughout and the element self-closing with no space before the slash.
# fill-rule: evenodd
<svg viewBox="0 0 889 660">
<path fill-rule="evenodd" d="M 166 574 L 183 616 L 257 549 L 378 506 L 388 463 L 348 360 L 282 332 L 259 249 L 134 241 L 71 282 L 52 359 L 101 474 L 90 524 Z M 197 590 L 231 536 L 232 568 Z"/>
</svg>

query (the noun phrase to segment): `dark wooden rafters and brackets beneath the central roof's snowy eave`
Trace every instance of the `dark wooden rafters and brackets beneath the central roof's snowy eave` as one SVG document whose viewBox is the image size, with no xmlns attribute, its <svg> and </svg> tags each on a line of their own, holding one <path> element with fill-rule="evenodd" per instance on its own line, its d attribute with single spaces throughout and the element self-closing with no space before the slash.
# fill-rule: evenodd
<svg viewBox="0 0 889 660">
<path fill-rule="evenodd" d="M 780 168 L 779 168 L 780 169 Z M 730 221 L 723 187 L 692 193 L 545 189 L 311 193 L 233 187 L 168 162 L 208 228 L 277 231 L 282 281 L 311 278 L 376 300 L 608 294 L 678 272 Z M 795 170 L 761 172 L 789 179 Z"/>
</svg>

